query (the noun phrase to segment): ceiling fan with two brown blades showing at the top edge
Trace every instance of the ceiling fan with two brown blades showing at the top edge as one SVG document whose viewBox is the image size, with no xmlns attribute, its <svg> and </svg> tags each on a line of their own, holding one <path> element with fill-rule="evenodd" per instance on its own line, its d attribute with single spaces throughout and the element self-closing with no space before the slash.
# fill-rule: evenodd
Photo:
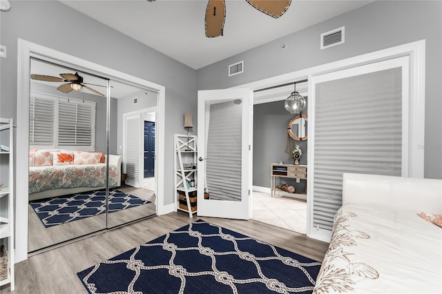
<svg viewBox="0 0 442 294">
<path fill-rule="evenodd" d="M 246 0 L 254 8 L 271 17 L 278 18 L 289 9 L 291 0 Z M 206 37 L 222 36 L 226 19 L 224 0 L 209 0 L 206 8 Z"/>
</svg>

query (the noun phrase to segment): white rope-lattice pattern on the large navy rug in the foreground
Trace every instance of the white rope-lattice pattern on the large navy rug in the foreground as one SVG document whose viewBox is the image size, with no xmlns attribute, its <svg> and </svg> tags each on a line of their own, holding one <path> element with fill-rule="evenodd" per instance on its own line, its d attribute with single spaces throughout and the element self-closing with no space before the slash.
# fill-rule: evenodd
<svg viewBox="0 0 442 294">
<path fill-rule="evenodd" d="M 198 231 L 198 225 L 202 225 L 202 224 L 207 224 L 209 226 L 218 228 L 218 233 L 211 233 L 211 234 L 204 234 L 201 233 L 200 231 Z M 193 229 L 193 227 L 195 226 L 195 230 Z M 94 266 L 93 268 L 89 268 L 81 273 L 79 273 L 79 277 L 81 278 L 81 276 L 83 276 L 82 278 L 82 282 L 84 282 L 86 288 L 88 289 L 88 291 L 90 291 L 90 293 L 103 293 L 105 289 L 102 288 L 97 288 L 98 285 L 96 284 L 97 281 L 95 280 L 95 282 L 90 282 L 89 280 L 92 280 L 91 277 L 94 277 L 94 275 L 96 274 L 98 277 L 104 277 L 105 275 L 105 271 L 104 269 L 101 268 L 101 266 L 107 267 L 107 265 L 115 265 L 118 266 L 118 268 L 125 268 L 125 271 L 133 271 L 133 274 L 131 273 L 122 273 L 122 276 L 128 278 L 128 277 L 133 277 L 132 280 L 121 280 L 119 281 L 119 283 L 124 283 L 125 285 L 127 285 L 127 292 L 126 291 L 122 291 L 121 290 L 115 290 L 114 291 L 105 291 L 106 293 L 144 293 L 144 291 L 140 292 L 140 289 L 135 289 L 134 285 L 137 284 L 138 278 L 140 277 L 140 275 L 142 275 L 143 271 L 155 271 L 155 270 L 160 270 L 160 269 L 166 269 L 169 272 L 169 275 L 176 277 L 177 279 L 179 279 L 181 281 L 180 284 L 180 288 L 179 291 L 177 291 L 177 293 L 184 293 L 184 289 L 186 288 L 186 277 L 198 277 L 198 276 L 213 276 L 214 279 L 216 280 L 216 282 L 220 283 L 220 284 L 224 284 L 224 285 L 228 285 L 231 288 L 231 292 L 232 293 L 238 293 L 238 289 L 237 286 L 242 285 L 244 286 L 244 284 L 253 284 L 253 283 L 257 283 L 257 284 L 265 284 L 265 287 L 267 287 L 267 291 L 274 291 L 277 293 L 299 293 L 299 292 L 309 292 L 309 291 L 313 291 L 314 285 L 315 285 L 315 280 L 316 280 L 316 275 L 317 275 L 317 271 L 319 271 L 319 267 L 321 265 L 320 262 L 315 262 L 314 260 L 311 259 L 307 259 L 307 257 L 303 257 L 306 260 L 308 260 L 309 262 L 299 262 L 297 259 L 294 259 L 292 257 L 289 256 L 283 256 L 280 253 L 278 253 L 279 251 L 284 251 L 281 248 L 277 248 L 276 246 L 273 246 L 271 244 L 267 244 L 265 242 L 261 242 L 257 239 L 251 238 L 251 237 L 247 237 L 244 235 L 241 235 L 239 233 L 233 232 L 233 231 L 229 231 L 229 232 L 233 232 L 236 235 L 240 235 L 241 237 L 235 237 L 229 233 L 223 233 L 224 231 L 229 231 L 225 228 L 222 228 L 220 226 L 216 226 L 214 224 L 210 224 L 207 222 L 204 222 L 202 220 L 198 220 L 197 222 L 193 223 L 193 224 L 189 224 L 189 228 L 185 231 L 173 231 L 171 233 L 167 233 L 166 235 L 164 235 L 164 239 L 162 239 L 162 237 L 153 240 L 152 242 L 148 242 L 146 244 L 142 244 L 140 246 L 137 246 L 136 248 L 133 249 L 133 253 L 131 253 L 130 256 L 127 255 L 127 253 L 130 253 L 130 251 L 123 253 L 122 255 L 119 255 L 117 257 L 114 257 L 113 259 L 109 259 L 105 262 L 102 262 L 101 264 L 97 264 L 96 266 Z M 198 242 L 195 242 L 196 244 L 198 244 L 198 246 L 189 246 L 189 247 L 183 247 L 180 246 L 180 244 L 175 244 L 173 242 L 169 242 L 169 240 L 171 239 L 171 237 L 173 237 L 173 235 L 175 234 L 183 234 L 183 238 L 184 237 L 194 237 L 194 238 L 198 238 Z M 220 237 L 223 241 L 222 242 L 230 242 L 231 245 L 233 246 L 229 246 L 227 245 L 227 247 L 231 247 L 234 250 L 228 250 L 228 251 L 223 251 L 221 250 L 221 248 L 219 248 L 219 250 L 214 250 L 211 247 L 207 247 L 207 246 L 203 246 L 202 244 L 204 243 L 204 241 L 207 238 L 211 238 L 211 237 Z M 155 242 L 160 240 L 162 242 Z M 266 256 L 256 256 L 253 255 L 253 253 L 249 253 L 248 251 L 241 251 L 240 247 L 243 247 L 242 245 L 238 245 L 241 242 L 244 241 L 252 241 L 252 242 L 256 242 L 256 247 L 260 247 L 260 246 L 265 246 L 265 250 L 264 251 L 268 251 Z M 142 256 L 146 256 L 148 255 L 146 253 L 146 249 L 144 248 L 148 248 L 148 247 L 160 247 L 162 248 L 163 251 L 168 251 L 171 253 L 171 257 L 169 259 L 169 261 L 167 262 L 166 260 L 163 259 L 163 263 L 162 264 L 156 264 L 156 265 L 146 265 L 145 264 L 145 260 L 143 260 L 143 257 L 137 256 L 142 255 Z M 216 247 L 216 246 L 215 246 Z M 269 250 L 270 248 L 270 250 Z M 144 252 L 143 252 L 144 251 Z M 177 257 L 177 254 L 182 254 L 183 252 L 199 252 L 200 255 L 205 255 L 207 257 L 211 258 L 211 271 L 190 271 L 189 268 L 186 268 L 185 265 L 183 266 L 182 264 L 175 264 L 175 257 Z M 262 253 L 262 248 L 261 251 L 259 251 L 260 253 Z M 284 251 L 289 253 L 288 251 Z M 273 254 L 272 254 L 273 253 Z M 257 254 L 257 253 L 256 253 Z M 292 253 L 293 255 L 296 255 L 296 253 Z M 218 262 L 220 262 L 220 258 L 222 258 L 223 256 L 236 256 L 233 258 L 238 258 L 238 260 L 242 259 L 245 262 L 249 262 L 251 264 L 254 265 L 255 270 L 253 270 L 253 275 L 256 275 L 256 273 L 258 273 L 259 277 L 252 277 L 252 278 L 237 278 L 237 277 L 233 277 L 233 275 L 231 275 L 229 272 L 227 271 L 222 271 L 220 269 L 218 269 Z M 302 257 L 300 255 L 297 255 L 298 257 Z M 121 259 L 119 259 L 121 258 Z M 160 257 L 157 257 L 158 259 L 161 259 Z M 231 258 L 231 257 L 229 257 Z M 304 277 L 302 277 L 302 279 L 305 279 L 305 282 L 307 283 L 308 286 L 300 286 L 300 287 L 290 287 L 287 286 L 284 282 L 281 282 L 279 280 L 276 280 L 273 277 L 268 277 L 267 275 L 265 275 L 264 271 L 261 268 L 261 264 L 262 262 L 265 261 L 273 261 L 273 262 L 279 262 L 279 266 L 278 268 L 281 268 L 282 271 L 284 271 L 284 266 L 289 266 L 291 268 L 298 268 L 300 271 L 302 271 L 302 273 L 305 275 Z M 195 260 L 196 262 L 196 260 Z M 190 266 L 190 264 L 189 264 Z M 251 266 L 253 268 L 253 266 Z M 315 277 L 312 277 L 311 274 L 309 273 L 309 271 L 307 271 L 306 268 L 310 268 L 310 271 L 312 273 L 314 273 L 316 271 Z M 286 267 L 287 268 L 287 267 Z M 314 271 L 312 271 L 312 269 L 315 268 Z M 90 272 L 88 272 L 90 271 Z M 102 272 L 104 271 L 104 272 Z M 269 273 L 268 268 L 266 268 L 266 272 Z M 297 275 L 299 275 L 298 272 L 296 272 Z M 95 279 L 97 279 L 97 277 L 95 277 Z M 102 279 L 100 279 L 102 280 Z M 101 281 L 103 284 L 106 284 L 107 286 L 107 281 Z M 157 281 L 157 283 L 159 283 L 160 281 Z M 124 288 L 124 287 L 122 287 Z M 242 288 L 244 290 L 244 288 Z M 109 290 L 109 289 L 106 289 Z M 178 290 L 178 289 L 177 289 Z M 208 289 L 206 288 L 205 291 L 207 293 L 211 292 L 211 293 L 219 293 L 217 290 L 215 290 L 215 288 L 212 289 Z M 173 290 L 170 289 L 170 292 L 173 293 Z M 189 292 L 190 293 L 190 292 Z M 193 293 L 193 292 L 192 292 Z M 202 293 L 204 293 L 204 290 L 202 291 Z"/>
</svg>

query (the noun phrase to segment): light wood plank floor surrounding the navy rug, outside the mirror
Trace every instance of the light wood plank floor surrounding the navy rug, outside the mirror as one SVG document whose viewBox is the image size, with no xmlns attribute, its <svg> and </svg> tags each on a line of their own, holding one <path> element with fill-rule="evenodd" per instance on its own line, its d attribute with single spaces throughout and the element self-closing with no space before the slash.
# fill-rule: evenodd
<svg viewBox="0 0 442 294">
<path fill-rule="evenodd" d="M 319 262 L 323 260 L 328 247 L 328 243 L 255 220 L 201 218 Z M 12 293 L 87 293 L 77 277 L 77 272 L 189 224 L 195 219 L 197 218 L 190 219 L 189 215 L 182 212 L 155 216 L 32 255 L 15 265 L 15 291 Z M 11 293 L 9 285 L 2 286 L 0 293 Z"/>
</svg>

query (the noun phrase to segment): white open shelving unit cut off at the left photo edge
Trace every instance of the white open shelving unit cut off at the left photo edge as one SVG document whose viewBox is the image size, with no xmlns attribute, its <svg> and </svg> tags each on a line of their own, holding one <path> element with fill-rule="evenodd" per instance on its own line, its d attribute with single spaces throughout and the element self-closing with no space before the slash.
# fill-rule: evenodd
<svg viewBox="0 0 442 294">
<path fill-rule="evenodd" d="M 0 118 L 0 246 L 6 255 L 0 257 L 0 286 L 10 284 L 14 291 L 14 124 L 12 119 Z M 8 173 L 5 171 L 8 170 Z M 7 260 L 7 262 L 6 262 Z"/>
</svg>

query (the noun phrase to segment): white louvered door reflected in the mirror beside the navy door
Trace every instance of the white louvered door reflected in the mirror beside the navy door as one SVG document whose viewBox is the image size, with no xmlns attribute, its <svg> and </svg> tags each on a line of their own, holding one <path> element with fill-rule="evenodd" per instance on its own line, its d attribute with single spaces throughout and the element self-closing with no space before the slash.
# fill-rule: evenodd
<svg viewBox="0 0 442 294">
<path fill-rule="evenodd" d="M 123 170 L 126 184 L 141 188 L 143 170 L 143 131 L 141 114 L 126 115 L 124 119 Z"/>
</svg>

